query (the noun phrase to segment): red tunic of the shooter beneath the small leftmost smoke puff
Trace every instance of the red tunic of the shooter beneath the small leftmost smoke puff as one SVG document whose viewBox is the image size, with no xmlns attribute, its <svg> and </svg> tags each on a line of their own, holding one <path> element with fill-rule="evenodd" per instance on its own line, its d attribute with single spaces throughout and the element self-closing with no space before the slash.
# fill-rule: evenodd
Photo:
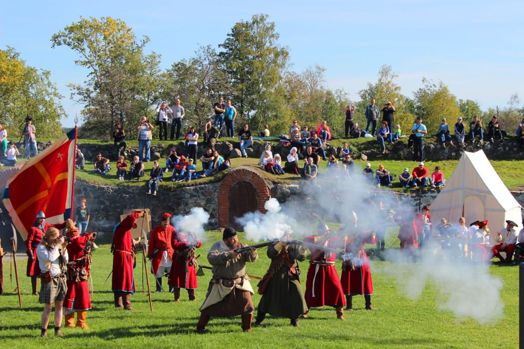
<svg viewBox="0 0 524 349">
<path fill-rule="evenodd" d="M 168 284 L 172 287 L 195 289 L 198 287 L 196 282 L 196 260 L 190 255 L 190 243 L 187 235 L 174 232 L 171 238 L 171 245 L 176 253 L 173 254 L 173 265 L 169 272 Z M 202 246 L 202 241 L 197 240 L 194 247 L 198 249 Z"/>
</svg>

